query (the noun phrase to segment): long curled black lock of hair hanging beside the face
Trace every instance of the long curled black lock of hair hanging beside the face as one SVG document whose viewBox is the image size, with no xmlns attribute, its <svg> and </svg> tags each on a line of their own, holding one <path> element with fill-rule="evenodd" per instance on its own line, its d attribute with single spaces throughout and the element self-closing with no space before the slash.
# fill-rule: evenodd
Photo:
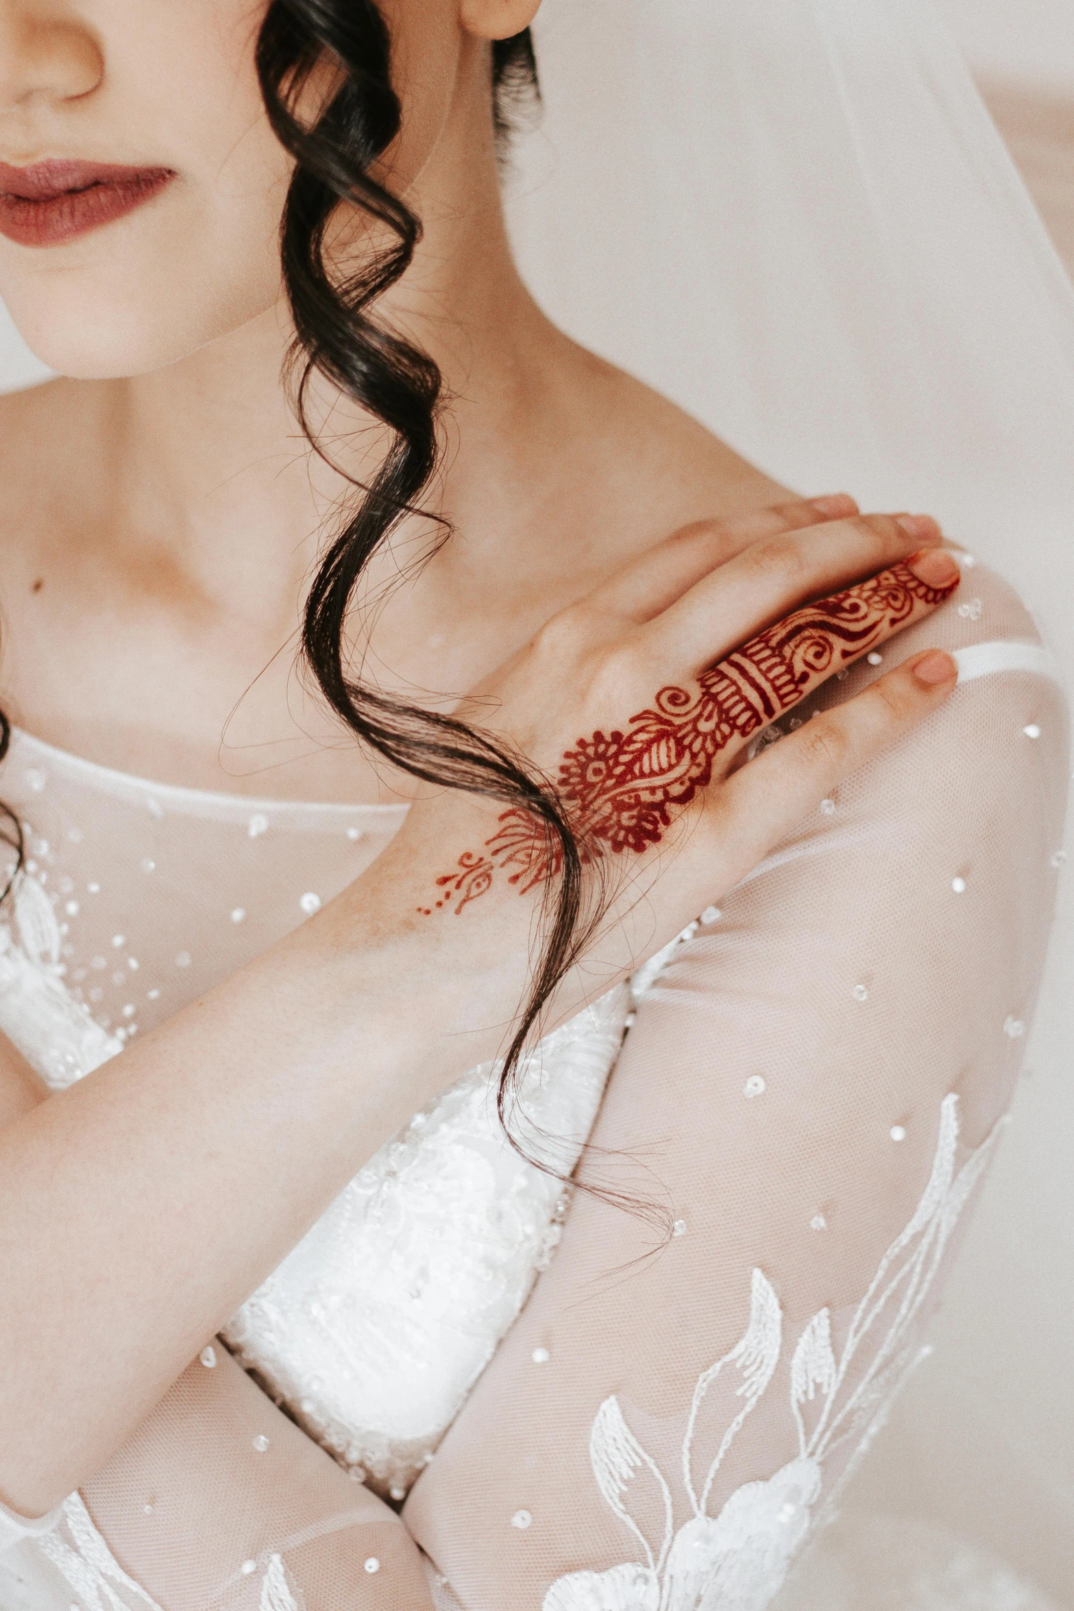
<svg viewBox="0 0 1074 1611">
<path fill-rule="evenodd" d="M 427 353 L 375 317 L 378 296 L 406 272 L 422 235 L 420 219 L 374 176 L 401 122 L 391 40 L 375 0 L 272 0 L 256 61 L 269 119 L 296 164 L 280 246 L 296 330 L 290 382 L 298 419 L 317 448 L 306 403 L 309 380 L 319 372 L 380 420 L 390 440 L 374 478 L 354 483 L 354 507 L 312 580 L 304 659 L 332 709 L 364 746 L 415 778 L 486 796 L 504 809 L 522 807 L 543 826 L 549 849 L 559 852 L 562 872 L 547 896 L 530 997 L 499 1083 L 501 1123 L 518 1145 L 507 1124 L 518 1058 L 593 921 L 583 917 L 580 846 L 556 791 L 522 756 L 457 717 L 364 686 L 348 669 L 345 649 L 362 570 L 406 516 L 422 512 L 440 454 L 440 371 Z M 325 61 L 338 69 L 337 87 L 306 126 L 299 116 L 303 90 Z M 518 98 L 539 93 L 530 32 L 496 42 L 489 71 L 494 129 L 502 143 Z M 362 208 L 383 242 L 346 277 L 333 272 L 325 253 L 325 234 L 341 203 Z"/>
</svg>

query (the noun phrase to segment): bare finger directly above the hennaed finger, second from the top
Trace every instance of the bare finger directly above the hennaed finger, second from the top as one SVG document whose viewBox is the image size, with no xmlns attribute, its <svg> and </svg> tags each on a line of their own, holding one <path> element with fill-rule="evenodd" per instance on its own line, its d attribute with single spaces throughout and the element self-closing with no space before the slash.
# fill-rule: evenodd
<svg viewBox="0 0 1074 1611">
<path fill-rule="evenodd" d="M 754 543 L 649 622 L 654 657 L 696 675 L 810 599 L 940 541 L 940 528 L 929 516 L 871 514 Z"/>
</svg>

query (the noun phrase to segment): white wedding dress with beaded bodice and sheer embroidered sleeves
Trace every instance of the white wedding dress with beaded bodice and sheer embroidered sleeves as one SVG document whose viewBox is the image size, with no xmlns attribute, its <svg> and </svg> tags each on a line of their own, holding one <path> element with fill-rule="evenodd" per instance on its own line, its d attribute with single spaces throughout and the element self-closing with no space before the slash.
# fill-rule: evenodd
<svg viewBox="0 0 1074 1611">
<path fill-rule="evenodd" d="M 1032 622 L 968 564 L 884 659 L 924 643 L 960 652 L 950 702 L 530 1060 L 523 1141 L 570 1174 L 591 1134 L 585 1178 L 639 1211 L 525 1163 L 473 1070 L 0 1559 L 3 1611 L 327 1611 L 348 1569 L 346 1603 L 394 1611 L 1045 1605 L 894 1524 L 832 1529 L 784 1588 L 927 1352 L 1063 862 L 1066 715 Z M 53 1087 L 316 910 L 403 814 L 161 788 L 26 735 L 0 788 L 29 851 L 0 1029 Z M 870 1585 L 881 1558 L 902 1582 Z"/>
</svg>

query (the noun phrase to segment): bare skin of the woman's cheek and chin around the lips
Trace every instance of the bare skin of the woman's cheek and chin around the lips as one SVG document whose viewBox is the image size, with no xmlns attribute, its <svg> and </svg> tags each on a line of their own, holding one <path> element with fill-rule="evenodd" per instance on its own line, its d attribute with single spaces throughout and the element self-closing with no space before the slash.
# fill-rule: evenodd
<svg viewBox="0 0 1074 1611">
<path fill-rule="evenodd" d="M 253 68 L 262 6 L 97 10 L 105 79 L 60 108 L 64 155 L 172 168 L 177 179 L 63 246 L 0 240 L 0 296 L 24 338 L 52 369 L 87 379 L 164 367 L 274 306 L 290 179 Z"/>
</svg>

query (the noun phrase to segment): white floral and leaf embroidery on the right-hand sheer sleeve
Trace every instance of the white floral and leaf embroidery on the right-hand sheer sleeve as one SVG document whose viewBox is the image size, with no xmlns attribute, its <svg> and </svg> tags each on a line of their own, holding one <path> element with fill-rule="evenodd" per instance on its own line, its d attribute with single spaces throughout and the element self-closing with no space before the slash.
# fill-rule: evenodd
<svg viewBox="0 0 1074 1611">
<path fill-rule="evenodd" d="M 644 1561 L 560 1577 L 544 1595 L 543 1611 L 765 1611 L 810 1530 L 826 1458 L 839 1445 L 853 1443 L 849 1464 L 857 1463 L 882 1426 L 895 1390 L 927 1352 L 913 1347 L 910 1329 L 1002 1123 L 956 1174 L 958 1097 L 944 1099 L 929 1182 L 910 1223 L 884 1253 L 842 1352 L 836 1356 L 826 1308 L 813 1315 L 799 1337 L 791 1361 L 799 1453 L 766 1482 L 736 1489 L 718 1516 L 708 1516 L 717 1472 L 783 1355 L 783 1311 L 765 1274 L 754 1271 L 750 1318 L 741 1342 L 704 1371 L 694 1387 L 683 1439 L 683 1487 L 692 1516 L 678 1532 L 667 1477 L 626 1426 L 618 1398 L 604 1400 L 589 1435 L 593 1474 L 605 1505 L 641 1543 Z M 866 1344 L 874 1345 L 868 1363 L 861 1358 Z M 737 1374 L 736 1392 L 744 1402 L 699 1493 L 694 1432 L 705 1395 L 723 1373 Z M 655 1482 L 663 1501 L 659 1551 L 631 1516 L 630 1498 L 638 1482 Z"/>
</svg>

